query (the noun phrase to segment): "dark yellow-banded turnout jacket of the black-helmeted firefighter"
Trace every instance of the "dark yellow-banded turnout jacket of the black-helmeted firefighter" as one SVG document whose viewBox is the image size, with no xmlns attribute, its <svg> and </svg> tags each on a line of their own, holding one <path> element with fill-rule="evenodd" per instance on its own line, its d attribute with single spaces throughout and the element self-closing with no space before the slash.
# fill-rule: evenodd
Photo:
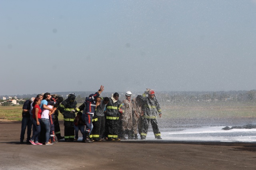
<svg viewBox="0 0 256 170">
<path fill-rule="evenodd" d="M 77 102 L 76 101 L 69 101 L 68 99 L 62 101 L 60 103 L 59 111 L 64 116 L 64 121 L 71 121 L 74 122 L 76 114 L 71 112 L 76 109 Z"/>
</svg>

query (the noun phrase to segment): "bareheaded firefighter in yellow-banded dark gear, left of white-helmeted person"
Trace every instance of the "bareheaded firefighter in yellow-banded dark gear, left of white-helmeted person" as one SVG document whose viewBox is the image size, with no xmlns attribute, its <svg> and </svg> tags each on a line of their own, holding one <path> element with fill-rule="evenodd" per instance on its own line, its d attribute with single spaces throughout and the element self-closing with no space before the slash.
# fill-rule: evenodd
<svg viewBox="0 0 256 170">
<path fill-rule="evenodd" d="M 114 93 L 106 105 L 106 131 L 108 140 L 119 141 L 118 130 L 120 128 L 120 114 L 122 114 L 122 103 L 118 100 L 119 94 Z"/>
</svg>

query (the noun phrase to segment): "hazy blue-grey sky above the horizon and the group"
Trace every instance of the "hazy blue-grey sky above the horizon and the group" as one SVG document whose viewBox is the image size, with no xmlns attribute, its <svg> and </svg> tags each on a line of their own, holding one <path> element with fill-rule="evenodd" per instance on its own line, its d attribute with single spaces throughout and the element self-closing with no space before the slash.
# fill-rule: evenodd
<svg viewBox="0 0 256 170">
<path fill-rule="evenodd" d="M 0 0 L 0 95 L 256 89 L 256 0 Z"/>
</svg>

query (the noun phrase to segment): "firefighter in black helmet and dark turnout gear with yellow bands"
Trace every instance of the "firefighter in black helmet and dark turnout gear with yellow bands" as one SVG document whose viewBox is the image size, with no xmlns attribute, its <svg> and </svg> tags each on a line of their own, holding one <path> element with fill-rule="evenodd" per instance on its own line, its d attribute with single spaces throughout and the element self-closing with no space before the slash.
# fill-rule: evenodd
<svg viewBox="0 0 256 170">
<path fill-rule="evenodd" d="M 75 121 L 75 109 L 76 109 L 76 96 L 69 94 L 68 99 L 64 100 L 60 106 L 59 111 L 64 116 L 64 138 L 67 142 L 74 141 L 74 121 Z"/>
</svg>

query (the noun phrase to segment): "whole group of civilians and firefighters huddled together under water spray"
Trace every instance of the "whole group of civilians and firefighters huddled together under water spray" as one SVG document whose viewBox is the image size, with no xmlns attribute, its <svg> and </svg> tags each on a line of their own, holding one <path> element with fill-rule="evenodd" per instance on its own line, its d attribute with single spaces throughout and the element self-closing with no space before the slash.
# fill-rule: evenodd
<svg viewBox="0 0 256 170">
<path fill-rule="evenodd" d="M 20 142 L 23 143 L 26 127 L 26 142 L 35 145 L 51 145 L 63 138 L 67 142 L 77 142 L 79 130 L 85 143 L 126 140 L 126 135 L 130 140 L 138 139 L 138 134 L 143 140 L 146 139 L 149 123 L 155 138 L 162 139 L 156 120 L 162 112 L 154 90 L 147 89 L 134 99 L 132 93 L 127 91 L 122 102 L 118 93 L 112 94 L 112 97 L 101 97 L 103 91 L 104 86 L 101 86 L 78 108 L 74 94 L 63 100 L 58 95 L 44 93 L 25 101 Z M 64 116 L 64 136 L 60 135 L 59 113 Z"/>
</svg>

